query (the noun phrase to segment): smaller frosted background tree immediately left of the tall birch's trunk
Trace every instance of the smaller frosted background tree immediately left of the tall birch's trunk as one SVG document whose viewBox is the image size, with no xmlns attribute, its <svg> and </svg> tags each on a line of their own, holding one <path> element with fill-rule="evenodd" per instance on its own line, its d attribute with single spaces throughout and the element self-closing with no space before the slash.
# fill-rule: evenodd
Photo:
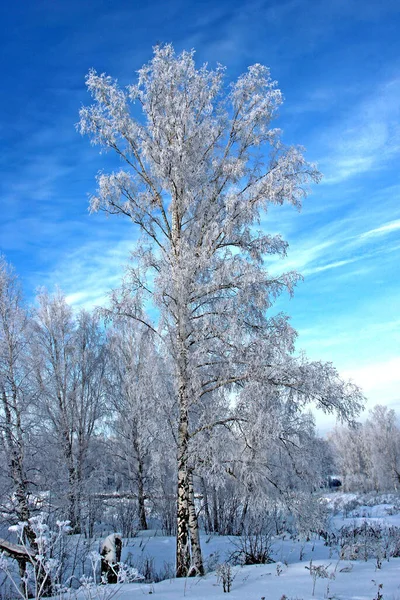
<svg viewBox="0 0 400 600">
<path fill-rule="evenodd" d="M 108 353 L 114 456 L 129 489 L 137 494 L 139 527 L 147 529 L 145 500 L 154 487 L 154 459 L 167 428 L 169 374 L 152 332 L 133 320 L 114 323 Z"/>
</svg>

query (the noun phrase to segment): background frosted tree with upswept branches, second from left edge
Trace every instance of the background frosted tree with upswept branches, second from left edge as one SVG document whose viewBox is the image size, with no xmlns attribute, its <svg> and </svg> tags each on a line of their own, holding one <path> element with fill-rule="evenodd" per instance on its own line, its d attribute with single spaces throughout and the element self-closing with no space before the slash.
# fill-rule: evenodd
<svg viewBox="0 0 400 600">
<path fill-rule="evenodd" d="M 90 443 L 106 406 L 103 334 L 97 317 L 86 312 L 75 317 L 59 291 L 53 296 L 42 291 L 37 303 L 32 344 L 43 433 L 47 430 L 67 472 L 62 496 L 71 528 L 79 532 Z"/>
</svg>

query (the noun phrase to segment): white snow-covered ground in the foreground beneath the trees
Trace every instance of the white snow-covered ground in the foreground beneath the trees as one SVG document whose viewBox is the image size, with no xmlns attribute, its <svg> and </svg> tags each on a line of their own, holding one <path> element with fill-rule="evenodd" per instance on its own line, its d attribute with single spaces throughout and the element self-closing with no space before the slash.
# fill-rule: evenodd
<svg viewBox="0 0 400 600">
<path fill-rule="evenodd" d="M 89 593 L 80 588 L 78 593 L 71 591 L 70 598 L 135 600 L 150 595 L 159 600 L 400 600 L 400 541 L 399 558 L 390 557 L 388 552 L 389 544 L 396 536 L 400 540 L 400 497 L 374 499 L 335 493 L 328 494 L 324 501 L 331 513 L 328 523 L 332 534 L 330 545 L 318 535 L 308 541 L 293 538 L 288 533 L 277 536 L 271 547 L 275 562 L 230 567 L 232 585 L 229 594 L 223 591 L 218 566 L 229 561 L 237 550 L 238 538 L 203 534 L 201 541 L 207 574 L 175 579 L 175 538 L 146 531 L 124 540 L 122 561 L 136 567 L 147 576 L 147 581 L 162 581 L 99 586 Z M 341 531 L 343 527 L 350 531 L 348 538 Z M 365 543 L 360 542 L 357 535 L 352 537 L 351 533 L 357 529 L 361 536 L 363 531 L 372 531 L 371 537 L 368 534 Z M 374 531 L 378 532 L 378 541 Z M 69 541 L 73 548 L 78 537 L 71 536 Z M 98 550 L 99 540 L 86 544 L 83 561 L 87 560 L 90 550 Z M 350 548 L 347 556 L 346 544 Z M 359 552 L 354 550 L 356 546 L 359 546 Z M 366 554 L 368 557 L 364 560 Z M 349 560 L 350 555 L 357 560 Z"/>
</svg>

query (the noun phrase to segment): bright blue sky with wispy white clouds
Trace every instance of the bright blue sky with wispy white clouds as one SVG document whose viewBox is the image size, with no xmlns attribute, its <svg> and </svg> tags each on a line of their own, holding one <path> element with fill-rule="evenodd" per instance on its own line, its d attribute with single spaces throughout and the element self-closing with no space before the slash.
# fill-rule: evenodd
<svg viewBox="0 0 400 600">
<path fill-rule="evenodd" d="M 0 252 L 28 298 L 58 284 L 76 306 L 102 303 L 136 236 L 87 211 L 110 161 L 75 131 L 89 68 L 128 84 L 159 42 L 232 79 L 261 62 L 285 96 L 284 140 L 324 173 L 301 213 L 264 220 L 290 243 L 282 267 L 304 275 L 277 309 L 369 406 L 400 410 L 398 0 L 21 0 L 1 12 Z"/>
</svg>

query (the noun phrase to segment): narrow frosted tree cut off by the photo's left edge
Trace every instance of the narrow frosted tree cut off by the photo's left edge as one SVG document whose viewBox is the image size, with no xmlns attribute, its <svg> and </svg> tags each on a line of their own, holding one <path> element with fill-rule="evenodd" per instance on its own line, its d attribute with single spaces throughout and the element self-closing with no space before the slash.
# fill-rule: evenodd
<svg viewBox="0 0 400 600">
<path fill-rule="evenodd" d="M 22 303 L 22 293 L 13 268 L 0 256 L 0 450 L 1 513 L 13 524 L 26 523 L 23 540 L 33 554 L 38 552 L 36 533 L 29 522 L 32 516 L 32 478 L 29 430 L 36 394 L 29 354 L 30 322 Z M 27 559 L 13 555 L 25 575 Z M 45 574 L 38 570 L 41 582 Z M 48 580 L 48 587 L 50 580 Z"/>
</svg>

